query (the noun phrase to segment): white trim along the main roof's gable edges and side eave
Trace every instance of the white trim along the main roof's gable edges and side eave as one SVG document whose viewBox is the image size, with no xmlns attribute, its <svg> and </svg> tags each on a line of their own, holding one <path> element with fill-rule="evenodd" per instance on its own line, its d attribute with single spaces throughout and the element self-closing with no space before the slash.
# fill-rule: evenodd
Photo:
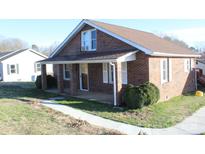
<svg viewBox="0 0 205 154">
<path fill-rule="evenodd" d="M 66 37 L 66 39 L 55 49 L 55 51 L 53 53 L 51 53 L 51 55 L 49 57 L 53 57 L 55 56 L 57 53 L 59 53 L 61 51 L 61 49 L 65 46 L 66 43 L 68 43 L 68 41 L 70 41 L 74 36 L 75 34 L 77 34 L 82 28 L 83 26 L 87 24 L 87 25 L 90 25 L 92 26 L 93 28 L 97 29 L 97 30 L 100 30 L 108 35 L 111 35 L 113 36 L 114 38 L 118 39 L 118 40 L 121 40 L 141 51 L 143 51 L 145 54 L 148 54 L 148 55 L 151 55 L 151 56 L 173 56 L 173 57 L 199 57 L 199 55 L 185 55 L 185 54 L 169 54 L 169 53 L 159 53 L 159 52 L 154 52 L 154 51 L 151 51 L 150 49 L 147 49 L 146 47 L 143 47 L 142 45 L 139 45 L 135 42 L 132 42 L 126 38 L 123 38 L 122 36 L 120 35 L 117 35 L 105 28 L 102 28 L 100 26 L 97 26 L 95 25 L 94 23 L 92 23 L 92 21 L 90 20 L 87 20 L 87 19 L 84 19 L 82 20 L 76 27 L 75 29 Z"/>
</svg>

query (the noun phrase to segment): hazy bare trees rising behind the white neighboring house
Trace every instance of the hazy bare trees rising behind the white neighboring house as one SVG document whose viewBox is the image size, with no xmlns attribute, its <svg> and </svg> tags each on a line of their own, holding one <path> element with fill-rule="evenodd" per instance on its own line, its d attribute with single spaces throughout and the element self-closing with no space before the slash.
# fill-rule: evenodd
<svg viewBox="0 0 205 154">
<path fill-rule="evenodd" d="M 7 52 L 27 48 L 28 44 L 17 38 L 5 38 L 0 40 L 0 52 Z"/>
</svg>

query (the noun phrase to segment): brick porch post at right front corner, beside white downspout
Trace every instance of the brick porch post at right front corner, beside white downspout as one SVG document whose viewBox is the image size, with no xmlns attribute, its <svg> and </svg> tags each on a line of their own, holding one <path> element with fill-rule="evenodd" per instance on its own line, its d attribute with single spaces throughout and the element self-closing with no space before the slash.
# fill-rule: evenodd
<svg viewBox="0 0 205 154">
<path fill-rule="evenodd" d="M 115 63 L 115 79 L 116 79 L 116 103 L 117 106 L 122 104 L 122 70 L 121 62 Z"/>
</svg>

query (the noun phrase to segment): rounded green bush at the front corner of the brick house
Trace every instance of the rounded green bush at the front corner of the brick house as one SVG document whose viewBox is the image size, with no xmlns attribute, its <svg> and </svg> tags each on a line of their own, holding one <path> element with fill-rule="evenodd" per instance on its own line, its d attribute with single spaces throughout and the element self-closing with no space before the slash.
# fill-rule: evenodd
<svg viewBox="0 0 205 154">
<path fill-rule="evenodd" d="M 140 86 L 128 85 L 124 100 L 128 108 L 142 108 L 159 100 L 159 89 L 152 83 L 144 83 Z"/>
</svg>

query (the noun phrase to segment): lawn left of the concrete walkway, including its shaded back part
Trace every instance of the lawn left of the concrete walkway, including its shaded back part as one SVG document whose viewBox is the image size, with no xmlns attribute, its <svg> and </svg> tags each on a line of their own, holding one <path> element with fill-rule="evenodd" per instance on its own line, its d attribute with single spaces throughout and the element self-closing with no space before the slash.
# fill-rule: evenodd
<svg viewBox="0 0 205 154">
<path fill-rule="evenodd" d="M 31 83 L 0 83 L 0 134 L 120 134 L 56 112 L 36 101 L 54 96 L 35 89 Z M 29 100 L 22 101 L 25 98 Z"/>
</svg>

